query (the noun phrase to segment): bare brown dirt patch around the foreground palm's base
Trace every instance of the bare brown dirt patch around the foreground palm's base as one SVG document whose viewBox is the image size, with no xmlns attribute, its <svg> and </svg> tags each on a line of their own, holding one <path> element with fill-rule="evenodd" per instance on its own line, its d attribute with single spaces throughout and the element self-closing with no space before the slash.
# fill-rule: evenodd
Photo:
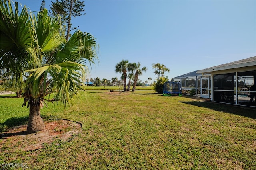
<svg viewBox="0 0 256 170">
<path fill-rule="evenodd" d="M 44 130 L 32 134 L 26 134 L 27 125 L 13 127 L 1 133 L 1 152 L 28 151 L 44 148 L 45 145 L 59 145 L 73 139 L 82 129 L 81 124 L 65 119 L 47 120 L 44 125 Z"/>
</svg>

